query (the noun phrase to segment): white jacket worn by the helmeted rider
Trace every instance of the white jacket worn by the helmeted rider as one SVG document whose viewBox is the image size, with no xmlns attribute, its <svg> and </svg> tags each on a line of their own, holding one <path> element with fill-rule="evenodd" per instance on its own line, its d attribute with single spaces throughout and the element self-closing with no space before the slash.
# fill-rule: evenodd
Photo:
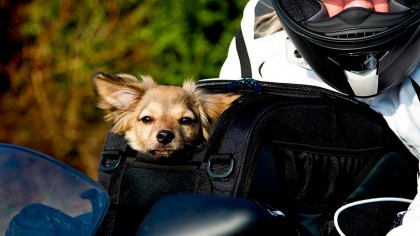
<svg viewBox="0 0 420 236">
<path fill-rule="evenodd" d="M 295 48 L 283 30 L 262 38 L 254 38 L 257 3 L 258 0 L 248 2 L 241 21 L 253 78 L 278 83 L 314 85 L 337 91 L 310 70 L 302 58 L 298 59 L 293 56 Z M 224 79 L 241 77 L 235 39 L 232 40 L 219 77 Z M 417 84 L 420 84 L 419 67 L 411 77 Z M 420 101 L 410 79 L 386 93 L 359 100 L 382 114 L 394 133 L 411 153 L 420 159 Z M 389 235 L 400 235 L 398 233 L 401 230 L 404 235 L 420 235 L 420 195 L 415 198 L 410 208 L 412 209 L 404 217 L 403 225 L 391 231 Z M 410 230 L 404 231 L 404 228 L 410 228 Z"/>
</svg>

